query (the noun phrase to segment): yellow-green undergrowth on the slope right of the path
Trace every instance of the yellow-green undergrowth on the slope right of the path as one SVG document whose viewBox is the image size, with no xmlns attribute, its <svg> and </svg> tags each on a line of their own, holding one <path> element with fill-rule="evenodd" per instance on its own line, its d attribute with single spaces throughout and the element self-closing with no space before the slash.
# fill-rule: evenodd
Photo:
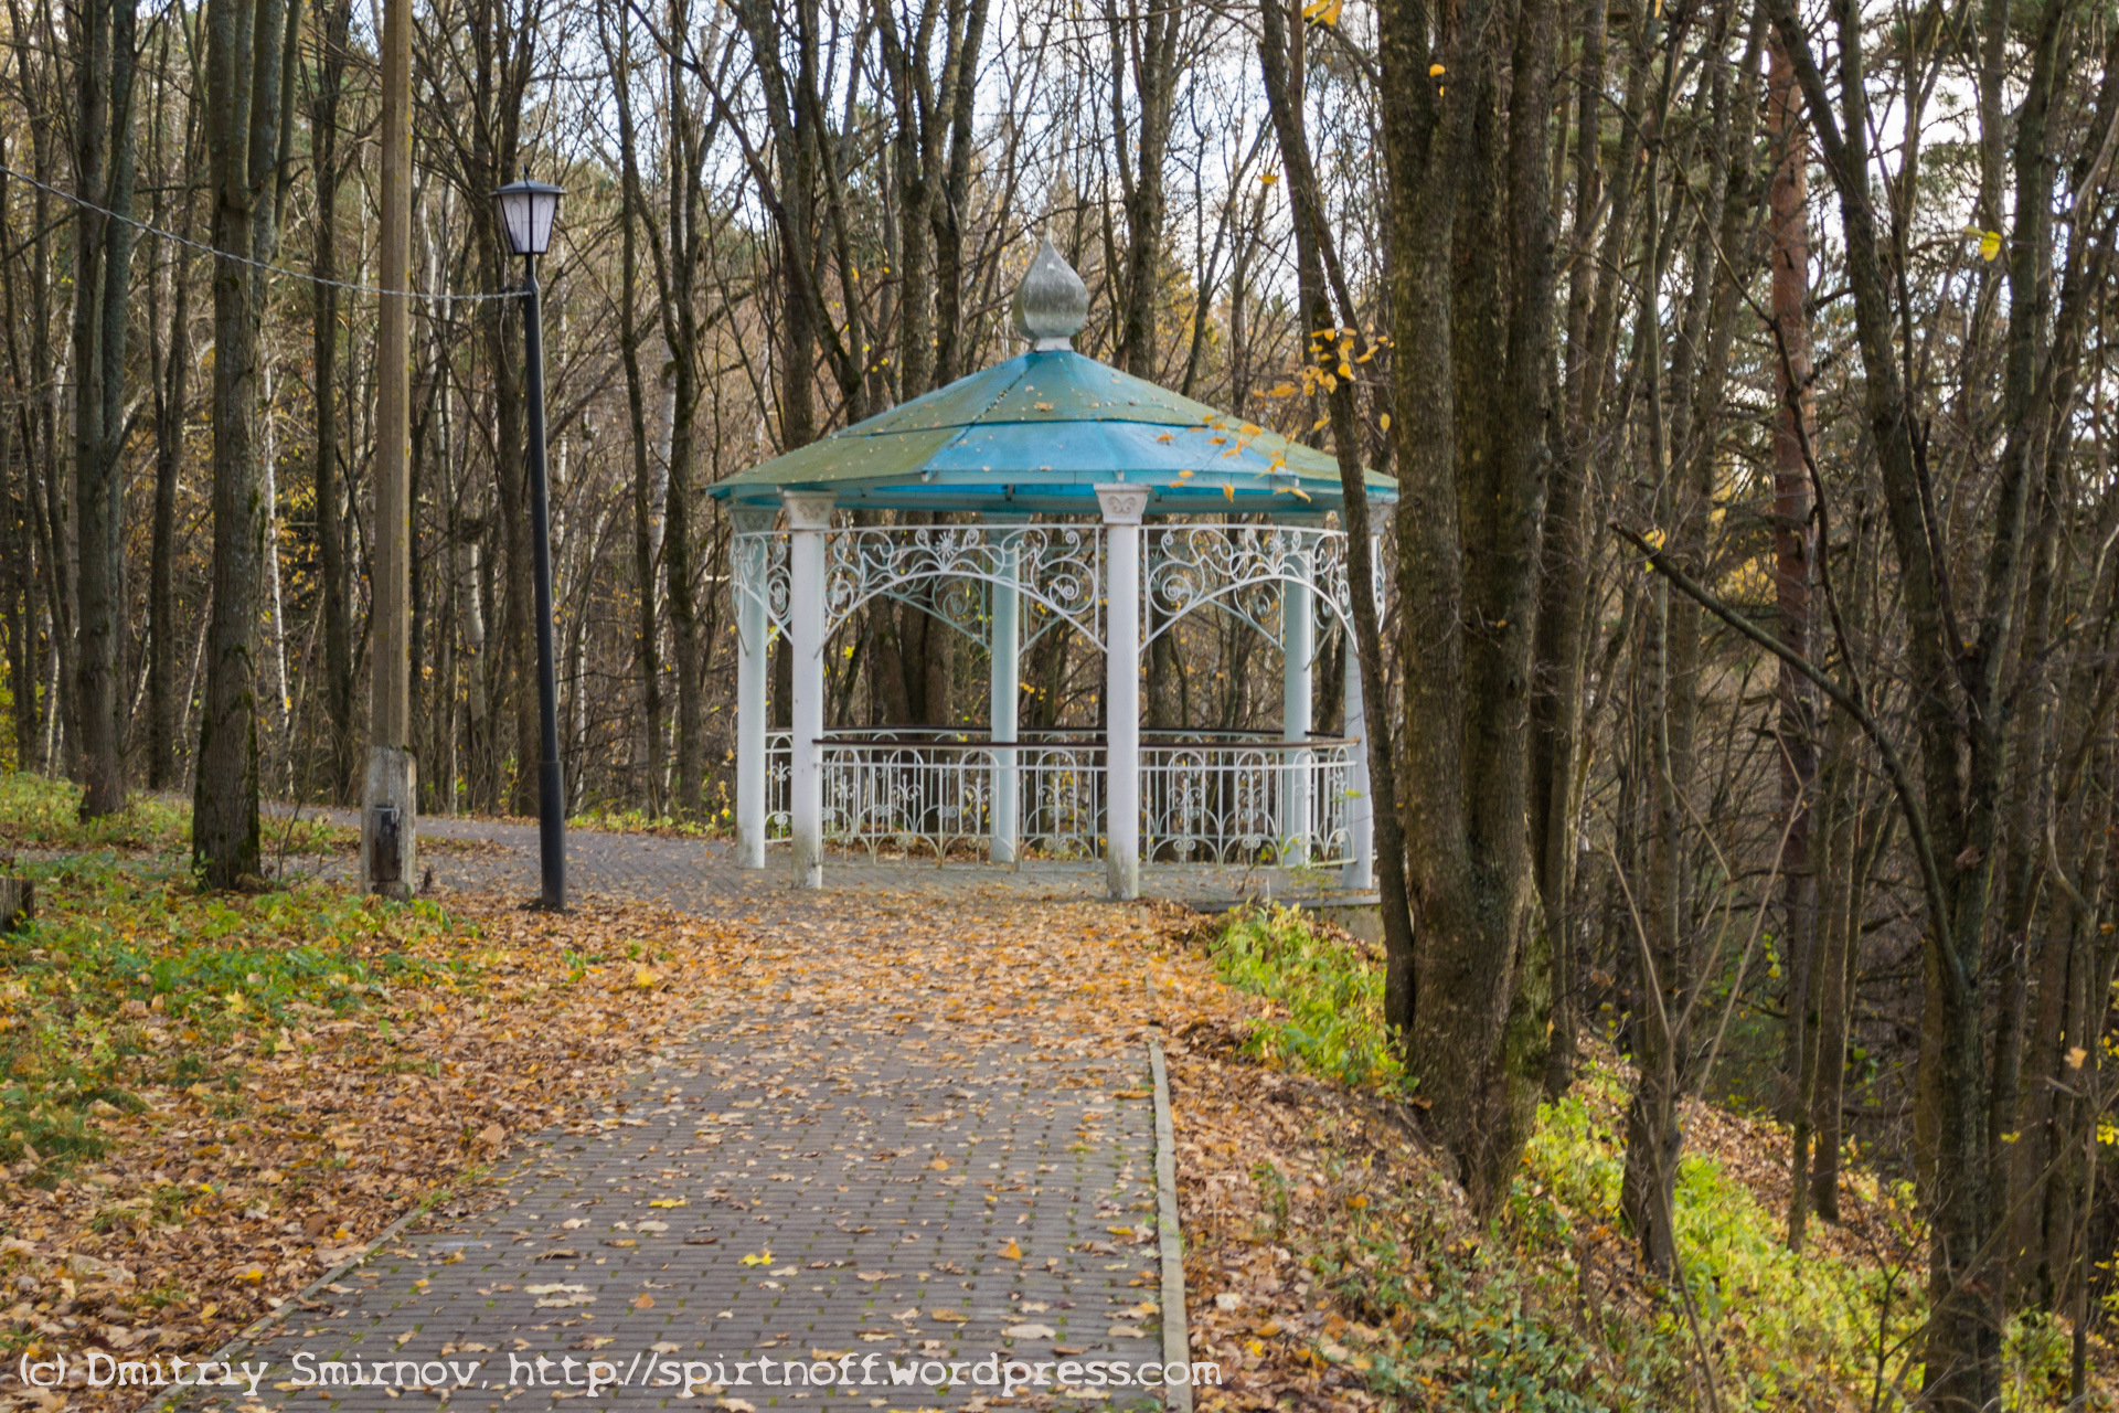
<svg viewBox="0 0 2119 1413">
<path fill-rule="evenodd" d="M 1254 1057 L 1386 1097 L 1411 1089 L 1384 1034 L 1382 966 L 1358 943 L 1271 907 L 1231 913 L 1206 945 L 1225 981 L 1284 1010 L 1252 1025 Z M 1521 1174 L 1483 1229 L 1449 1216 L 1432 1171 L 1377 1184 L 1371 1159 L 1339 1155 L 1331 1180 L 1360 1199 L 1329 1229 L 1274 1233 L 1305 1248 L 1341 1307 L 1379 1330 L 1371 1349 L 1324 1347 L 1324 1358 L 1401 1407 L 1907 1407 L 1901 1390 L 1920 1383 L 1907 1349 L 1924 1316 L 1909 1199 L 1856 1176 L 1880 1214 L 1869 1231 L 1890 1250 L 1820 1239 L 1797 1256 L 1784 1214 L 1740 1178 L 1767 1159 L 1695 1146 L 1676 1184 L 1682 1284 L 1653 1280 L 1619 1214 L 1630 1085 L 1619 1061 L 1591 1057 L 1541 1106 Z M 1257 1180 L 1271 1210 L 1265 1188 L 1278 1178 Z M 2005 1375 L 2007 1409 L 2058 1407 L 2066 1339 L 2017 1320 Z"/>
</svg>

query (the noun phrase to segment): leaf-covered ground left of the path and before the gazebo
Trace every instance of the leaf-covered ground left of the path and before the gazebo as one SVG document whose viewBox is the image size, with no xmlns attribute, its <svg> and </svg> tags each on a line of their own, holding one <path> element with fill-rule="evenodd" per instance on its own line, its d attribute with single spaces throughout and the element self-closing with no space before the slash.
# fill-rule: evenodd
<svg viewBox="0 0 2119 1413">
<path fill-rule="evenodd" d="M 420 1203 L 479 1203 L 519 1135 L 621 1123 L 602 1099 L 678 1027 L 829 1030 L 903 998 L 937 1017 L 905 1044 L 1060 1059 L 1138 1053 L 1221 991 L 1132 909 L 869 892 L 831 922 L 706 924 L 320 883 L 201 896 L 153 854 L 30 871 L 42 915 L 0 943 L 11 1356 L 216 1349 Z"/>
</svg>

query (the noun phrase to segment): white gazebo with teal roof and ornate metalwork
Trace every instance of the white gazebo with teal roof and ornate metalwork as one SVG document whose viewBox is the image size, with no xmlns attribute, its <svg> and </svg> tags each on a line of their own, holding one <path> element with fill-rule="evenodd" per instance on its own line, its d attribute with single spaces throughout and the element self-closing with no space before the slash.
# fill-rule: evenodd
<svg viewBox="0 0 2119 1413">
<path fill-rule="evenodd" d="M 1271 862 L 1371 888 L 1337 462 L 1076 354 L 1087 311 L 1087 288 L 1047 242 L 1015 294 L 1026 354 L 712 489 L 733 523 L 746 866 L 763 869 L 767 843 L 786 839 L 809 888 L 833 845 L 1102 856 L 1112 898 L 1140 896 L 1144 858 Z M 1396 483 L 1369 475 L 1367 496 L 1396 500 Z M 856 511 L 962 519 L 856 525 Z M 879 595 L 987 652 L 983 733 L 824 720 L 826 644 Z M 1142 735 L 1142 652 L 1204 610 L 1280 646 L 1278 733 Z M 1318 648 L 1333 631 L 1346 644 L 1346 735 L 1312 731 Z M 793 703 L 773 731 L 765 686 L 780 633 Z M 1104 655 L 1102 729 L 1017 729 L 1019 663 L 1043 633 L 1076 633 Z"/>
</svg>

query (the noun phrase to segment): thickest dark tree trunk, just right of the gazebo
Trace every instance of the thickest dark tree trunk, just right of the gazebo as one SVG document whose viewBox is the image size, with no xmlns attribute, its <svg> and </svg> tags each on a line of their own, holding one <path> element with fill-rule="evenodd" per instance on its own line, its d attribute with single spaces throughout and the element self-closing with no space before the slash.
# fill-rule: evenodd
<svg viewBox="0 0 2119 1413">
<path fill-rule="evenodd" d="M 1551 1004 L 1528 835 L 1528 684 L 1551 388 L 1555 23 L 1549 0 L 1524 0 L 1513 23 L 1477 0 L 1437 44 L 1428 19 L 1407 0 L 1377 19 L 1399 616 L 1405 661 L 1426 665 L 1405 678 L 1399 777 L 1415 938 L 1407 1059 L 1475 1210 L 1492 1212 L 1530 1138 Z M 1447 104 L 1430 64 L 1447 74 Z"/>
</svg>

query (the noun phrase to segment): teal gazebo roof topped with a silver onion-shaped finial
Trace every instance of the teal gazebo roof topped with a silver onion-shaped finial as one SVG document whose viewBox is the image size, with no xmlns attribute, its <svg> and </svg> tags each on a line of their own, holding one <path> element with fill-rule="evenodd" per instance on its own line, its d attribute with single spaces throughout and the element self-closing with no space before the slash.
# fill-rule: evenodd
<svg viewBox="0 0 2119 1413">
<path fill-rule="evenodd" d="M 1047 244 L 1017 294 L 1030 352 L 708 494 L 737 504 L 833 491 L 839 508 L 1098 515 L 1096 487 L 1127 483 L 1151 487 L 1148 515 L 1339 508 L 1339 462 L 1329 453 L 1076 354 L 1070 335 L 1087 303 L 1081 280 Z M 1367 487 L 1371 500 L 1399 498 L 1390 477 L 1369 472 Z"/>
</svg>

